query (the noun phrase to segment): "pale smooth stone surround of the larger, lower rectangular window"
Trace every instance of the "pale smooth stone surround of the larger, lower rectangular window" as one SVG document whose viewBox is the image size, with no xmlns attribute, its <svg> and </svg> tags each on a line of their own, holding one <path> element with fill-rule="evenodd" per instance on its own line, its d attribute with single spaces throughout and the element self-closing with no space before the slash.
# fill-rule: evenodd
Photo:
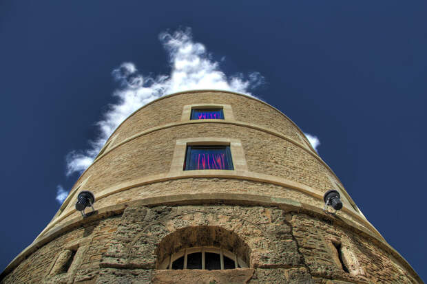
<svg viewBox="0 0 427 284">
<path fill-rule="evenodd" d="M 203 146 L 219 146 L 227 145 L 230 146 L 231 160 L 233 161 L 234 170 L 194 170 L 192 172 L 206 173 L 207 171 L 213 171 L 214 173 L 236 173 L 236 172 L 247 172 L 247 162 L 244 156 L 242 142 L 239 139 L 233 138 L 187 138 L 176 140 L 174 156 L 172 157 L 171 167 L 169 174 L 173 175 L 185 175 L 184 162 L 187 146 L 190 145 L 203 145 Z"/>
</svg>

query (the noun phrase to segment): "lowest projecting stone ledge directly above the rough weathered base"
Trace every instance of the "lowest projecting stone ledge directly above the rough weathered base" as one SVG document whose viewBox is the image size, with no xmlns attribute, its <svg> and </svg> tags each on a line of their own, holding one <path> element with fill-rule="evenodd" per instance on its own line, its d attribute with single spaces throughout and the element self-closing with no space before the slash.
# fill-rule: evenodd
<svg viewBox="0 0 427 284">
<path fill-rule="evenodd" d="M 168 178 L 170 179 L 170 178 Z M 127 188 L 129 189 L 129 188 Z M 123 189 L 125 190 L 125 189 Z M 118 191 L 116 191 L 118 192 Z M 52 241 L 60 234 L 72 230 L 73 228 L 79 228 L 83 223 L 87 221 L 95 221 L 98 219 L 103 219 L 105 217 L 110 217 L 112 215 L 121 214 L 125 208 L 129 206 L 161 206 L 161 205 L 191 205 L 191 204 L 216 204 L 222 202 L 224 204 L 234 204 L 234 205 L 243 205 L 243 206 L 275 206 L 289 211 L 302 212 L 307 215 L 320 216 L 323 219 L 329 219 L 331 222 L 336 222 L 347 228 L 353 228 L 360 234 L 365 234 L 366 236 L 372 237 L 377 241 L 377 244 L 382 246 L 384 250 L 390 252 L 395 258 L 399 259 L 401 263 L 406 266 L 414 275 L 417 275 L 413 267 L 404 259 L 402 255 L 399 254 L 394 248 L 392 248 L 382 237 L 379 237 L 378 234 L 366 230 L 361 226 L 358 226 L 353 221 L 348 219 L 342 219 L 339 216 L 332 217 L 331 215 L 326 214 L 322 208 L 317 208 L 309 204 L 304 204 L 298 201 L 293 201 L 291 199 L 278 198 L 278 197 L 269 197 L 265 195 L 251 195 L 245 193 L 195 193 L 195 194 L 180 194 L 180 195 L 163 195 L 159 197 L 147 197 L 144 199 L 138 199 L 134 201 L 127 201 L 122 204 L 116 204 L 112 206 L 106 206 L 96 211 L 95 215 L 83 219 L 82 217 L 74 217 L 69 221 L 61 224 L 50 230 L 47 234 L 39 237 L 28 245 L 25 250 L 23 250 L 18 256 L 16 256 L 6 267 L 6 269 L 0 274 L 0 279 L 4 278 L 9 272 L 11 272 L 14 267 L 17 267 L 26 256 L 41 248 L 45 243 Z"/>
</svg>

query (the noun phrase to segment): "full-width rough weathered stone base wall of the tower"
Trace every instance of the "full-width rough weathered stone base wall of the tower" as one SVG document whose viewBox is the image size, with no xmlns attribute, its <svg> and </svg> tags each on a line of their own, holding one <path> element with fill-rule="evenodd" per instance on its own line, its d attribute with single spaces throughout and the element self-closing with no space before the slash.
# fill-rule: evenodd
<svg viewBox="0 0 427 284">
<path fill-rule="evenodd" d="M 335 245 L 340 245 L 340 252 Z M 172 253 L 218 246 L 249 267 L 158 270 Z M 58 255 L 76 250 L 67 271 Z M 346 265 L 344 271 L 342 263 Z M 215 282 L 213 282 L 215 281 Z M 134 206 L 41 246 L 2 283 L 422 283 L 375 239 L 289 208 Z"/>
</svg>

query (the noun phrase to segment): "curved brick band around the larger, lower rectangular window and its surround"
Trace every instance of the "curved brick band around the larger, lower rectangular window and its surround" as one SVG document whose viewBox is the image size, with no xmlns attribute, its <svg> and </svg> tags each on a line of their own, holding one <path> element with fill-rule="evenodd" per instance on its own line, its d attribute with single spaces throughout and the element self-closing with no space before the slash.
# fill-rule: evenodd
<svg viewBox="0 0 427 284">
<path fill-rule="evenodd" d="M 275 135 L 230 124 L 197 123 L 161 129 L 121 144 L 98 159 L 82 176 L 87 190 L 170 171 L 177 138 L 235 138 L 242 142 L 248 171 L 284 177 L 326 192 L 329 171 L 306 149 Z"/>
</svg>

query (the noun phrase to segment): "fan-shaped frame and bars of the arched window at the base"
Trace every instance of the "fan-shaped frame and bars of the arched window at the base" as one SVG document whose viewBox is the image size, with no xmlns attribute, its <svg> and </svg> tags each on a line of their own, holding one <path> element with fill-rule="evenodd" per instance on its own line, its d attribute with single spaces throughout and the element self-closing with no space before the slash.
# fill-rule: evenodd
<svg viewBox="0 0 427 284">
<path fill-rule="evenodd" d="M 224 256 L 227 256 L 229 259 L 232 259 L 234 261 L 234 267 L 243 267 L 247 268 L 248 265 L 242 261 L 236 254 L 233 254 L 233 252 L 229 252 L 228 250 L 223 250 L 222 248 L 214 248 L 214 247 L 194 247 L 194 248 L 185 248 L 184 250 L 180 250 L 179 252 L 176 252 L 174 254 L 171 254 L 168 256 L 163 263 L 161 263 L 158 267 L 160 270 L 171 270 L 172 269 L 172 263 L 179 259 L 180 257 L 184 256 L 184 269 L 187 269 L 187 255 L 192 254 L 195 252 L 202 252 L 202 270 L 205 270 L 205 252 L 211 252 L 214 254 L 220 254 L 220 261 L 221 261 L 221 270 L 224 270 Z"/>
</svg>

